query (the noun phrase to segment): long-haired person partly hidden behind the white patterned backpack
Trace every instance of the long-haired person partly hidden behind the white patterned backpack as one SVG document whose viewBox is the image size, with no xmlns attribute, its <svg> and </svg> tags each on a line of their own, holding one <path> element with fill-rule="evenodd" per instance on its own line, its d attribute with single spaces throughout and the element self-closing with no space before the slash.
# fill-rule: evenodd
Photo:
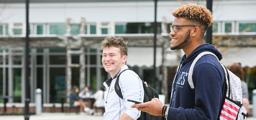
<svg viewBox="0 0 256 120">
<path fill-rule="evenodd" d="M 243 106 L 245 107 L 247 113 L 249 112 L 249 100 L 248 100 L 248 86 L 244 81 L 244 71 L 240 63 L 232 63 L 229 68 L 236 76 L 241 80 L 241 87 L 243 92 Z"/>
</svg>

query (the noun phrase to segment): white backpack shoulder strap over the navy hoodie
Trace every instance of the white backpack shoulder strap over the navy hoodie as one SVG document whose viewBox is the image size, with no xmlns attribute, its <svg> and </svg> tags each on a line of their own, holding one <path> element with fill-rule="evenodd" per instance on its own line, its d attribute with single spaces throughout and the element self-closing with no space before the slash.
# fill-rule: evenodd
<svg viewBox="0 0 256 120">
<path fill-rule="evenodd" d="M 193 80 L 192 80 L 192 74 L 193 74 L 193 69 L 194 69 L 194 65 L 195 63 L 200 59 L 202 58 L 203 56 L 205 55 L 212 55 L 214 56 L 218 61 L 219 59 L 217 58 L 217 56 L 215 54 L 213 54 L 212 52 L 202 52 L 200 53 L 199 55 L 197 55 L 197 57 L 194 59 L 194 61 L 192 62 L 191 66 L 190 66 L 190 69 L 189 69 L 189 76 L 188 76 L 188 82 L 189 82 L 189 85 L 190 87 L 192 88 L 192 91 L 193 93 L 195 93 L 195 88 L 194 88 L 194 84 L 193 84 Z"/>
</svg>

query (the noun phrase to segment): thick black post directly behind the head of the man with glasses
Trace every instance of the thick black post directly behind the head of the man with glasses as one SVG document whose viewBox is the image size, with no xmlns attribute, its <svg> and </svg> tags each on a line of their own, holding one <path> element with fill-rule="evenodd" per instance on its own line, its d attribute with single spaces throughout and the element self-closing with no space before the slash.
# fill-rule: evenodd
<svg viewBox="0 0 256 120">
<path fill-rule="evenodd" d="M 212 13 L 212 0 L 206 0 L 206 7 Z M 206 31 L 206 43 L 212 44 L 212 26 L 207 28 L 207 31 Z"/>
</svg>

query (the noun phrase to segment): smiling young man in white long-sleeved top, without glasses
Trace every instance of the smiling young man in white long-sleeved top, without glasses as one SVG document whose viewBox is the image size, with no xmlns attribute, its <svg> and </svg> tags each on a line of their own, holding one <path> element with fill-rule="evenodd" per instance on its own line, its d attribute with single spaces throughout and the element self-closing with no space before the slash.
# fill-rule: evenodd
<svg viewBox="0 0 256 120">
<path fill-rule="evenodd" d="M 107 37 L 102 41 L 102 64 L 111 76 L 103 83 L 107 88 L 104 93 L 104 120 L 136 120 L 140 117 L 141 111 L 131 108 L 134 103 L 127 101 L 131 99 L 143 102 L 144 89 L 140 77 L 132 70 L 125 70 L 128 69 L 126 44 L 120 37 Z M 123 99 L 117 95 L 114 86 L 119 74 Z"/>
</svg>

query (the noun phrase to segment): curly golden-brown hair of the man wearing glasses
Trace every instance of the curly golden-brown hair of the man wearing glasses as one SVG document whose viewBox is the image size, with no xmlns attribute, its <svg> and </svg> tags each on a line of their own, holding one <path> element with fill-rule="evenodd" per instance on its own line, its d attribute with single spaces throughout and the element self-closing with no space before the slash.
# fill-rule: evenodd
<svg viewBox="0 0 256 120">
<path fill-rule="evenodd" d="M 195 23 L 196 26 L 202 27 L 204 33 L 212 23 L 211 11 L 202 5 L 184 4 L 172 12 L 174 17 L 184 17 Z"/>
</svg>

